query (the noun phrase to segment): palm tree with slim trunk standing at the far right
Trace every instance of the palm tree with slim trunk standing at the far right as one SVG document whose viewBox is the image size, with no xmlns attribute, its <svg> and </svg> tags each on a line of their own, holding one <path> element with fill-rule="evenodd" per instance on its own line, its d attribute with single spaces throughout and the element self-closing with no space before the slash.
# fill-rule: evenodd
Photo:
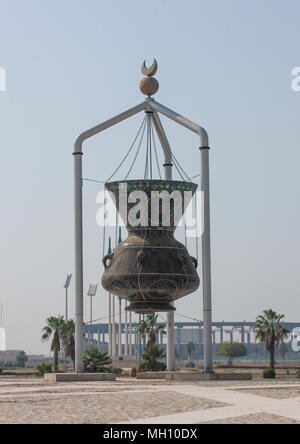
<svg viewBox="0 0 300 444">
<path fill-rule="evenodd" d="M 266 344 L 266 350 L 270 354 L 270 368 L 275 369 L 275 344 L 279 344 L 281 339 L 288 336 L 286 330 L 280 322 L 284 315 L 277 314 L 273 310 L 264 310 L 263 314 L 257 316 L 254 325 L 255 339 L 261 344 Z"/>
</svg>

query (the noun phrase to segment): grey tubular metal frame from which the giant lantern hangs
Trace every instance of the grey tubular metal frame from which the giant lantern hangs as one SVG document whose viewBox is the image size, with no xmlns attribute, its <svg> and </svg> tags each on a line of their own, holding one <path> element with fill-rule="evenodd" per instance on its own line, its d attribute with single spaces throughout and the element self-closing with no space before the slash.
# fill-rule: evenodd
<svg viewBox="0 0 300 444">
<path fill-rule="evenodd" d="M 126 120 L 141 111 L 153 112 L 153 121 L 160 141 L 164 131 L 158 114 L 183 125 L 200 138 L 202 191 L 204 191 L 204 233 L 202 235 L 202 279 L 203 279 L 203 322 L 204 322 L 204 370 L 212 371 L 212 314 L 211 314 L 211 258 L 210 258 L 210 215 L 209 215 L 209 144 L 204 128 L 166 108 L 153 98 L 81 133 L 74 143 L 74 220 L 75 220 L 75 371 L 83 372 L 83 229 L 82 229 L 82 155 L 83 142 L 90 137 Z M 161 128 L 160 128 L 161 125 Z M 163 149 L 166 144 L 162 143 Z M 166 156 L 165 151 L 165 156 Z M 170 156 L 170 151 L 168 153 Z M 170 160 L 170 157 L 169 157 Z M 166 162 L 167 163 L 167 162 Z M 171 163 L 171 162 L 170 162 Z M 174 329 L 173 329 L 174 330 Z M 174 331 L 173 331 L 174 335 Z M 174 339 L 173 339 L 174 341 Z"/>
</svg>

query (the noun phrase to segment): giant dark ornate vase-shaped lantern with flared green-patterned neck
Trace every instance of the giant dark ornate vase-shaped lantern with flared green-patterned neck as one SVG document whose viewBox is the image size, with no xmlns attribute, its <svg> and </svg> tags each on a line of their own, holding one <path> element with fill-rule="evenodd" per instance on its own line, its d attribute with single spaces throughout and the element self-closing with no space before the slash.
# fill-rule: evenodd
<svg viewBox="0 0 300 444">
<path fill-rule="evenodd" d="M 123 186 L 123 191 L 124 186 L 126 188 L 121 199 L 120 185 Z M 191 199 L 197 185 L 179 181 L 140 180 L 110 182 L 105 186 L 115 198 L 122 219 L 126 219 L 128 237 L 118 244 L 112 254 L 104 257 L 103 287 L 108 292 L 128 300 L 130 304 L 127 310 L 137 313 L 173 311 L 173 301 L 193 293 L 199 286 L 196 259 L 191 257 L 186 247 L 174 237 L 179 222 L 177 210 L 181 208 L 183 215 L 186 199 Z M 138 199 L 138 202 L 143 200 L 146 207 L 136 211 L 134 198 L 140 191 L 144 193 L 144 200 Z M 154 219 L 153 207 L 156 205 L 151 204 L 153 191 L 164 192 L 161 195 L 158 213 L 156 212 L 158 217 Z M 168 199 L 168 193 L 174 191 L 178 198 L 177 204 L 171 199 L 169 208 L 166 205 L 163 210 L 162 201 Z M 189 195 L 186 199 L 185 192 Z M 133 198 L 130 198 L 130 193 L 133 193 Z M 123 213 L 120 211 L 122 199 Z M 132 220 L 130 210 L 134 215 L 140 216 L 142 224 Z"/>
</svg>

